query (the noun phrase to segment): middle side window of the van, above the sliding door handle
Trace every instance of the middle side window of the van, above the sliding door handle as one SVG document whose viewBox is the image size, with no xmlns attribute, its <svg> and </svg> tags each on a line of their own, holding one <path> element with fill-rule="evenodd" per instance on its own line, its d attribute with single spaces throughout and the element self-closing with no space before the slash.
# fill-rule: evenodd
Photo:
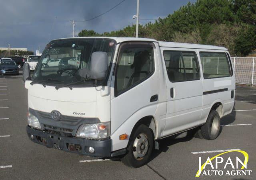
<svg viewBox="0 0 256 180">
<path fill-rule="evenodd" d="M 200 79 L 198 59 L 195 52 L 164 51 L 164 61 L 171 82 Z"/>
</svg>

